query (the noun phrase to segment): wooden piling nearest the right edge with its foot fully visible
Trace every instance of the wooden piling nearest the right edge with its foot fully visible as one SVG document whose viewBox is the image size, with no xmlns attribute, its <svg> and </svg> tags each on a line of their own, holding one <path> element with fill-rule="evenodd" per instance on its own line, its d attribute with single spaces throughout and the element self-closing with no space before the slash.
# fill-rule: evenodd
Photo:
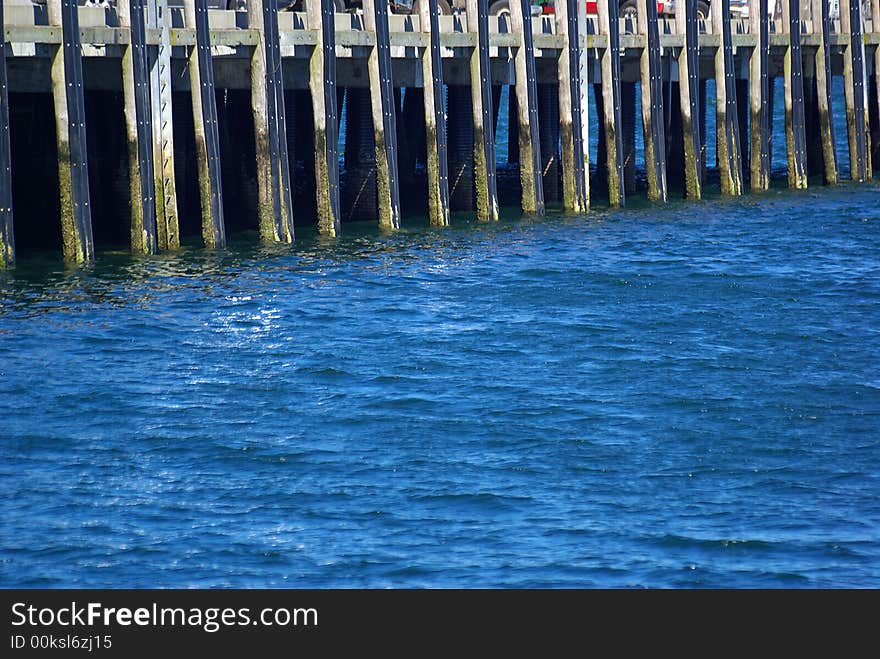
<svg viewBox="0 0 880 659">
<path fill-rule="evenodd" d="M 862 40 L 861 0 L 840 0 L 840 29 L 849 36 L 843 53 L 843 87 L 849 138 L 850 178 L 871 178 L 871 133 L 865 89 L 865 45 Z"/>
</svg>

